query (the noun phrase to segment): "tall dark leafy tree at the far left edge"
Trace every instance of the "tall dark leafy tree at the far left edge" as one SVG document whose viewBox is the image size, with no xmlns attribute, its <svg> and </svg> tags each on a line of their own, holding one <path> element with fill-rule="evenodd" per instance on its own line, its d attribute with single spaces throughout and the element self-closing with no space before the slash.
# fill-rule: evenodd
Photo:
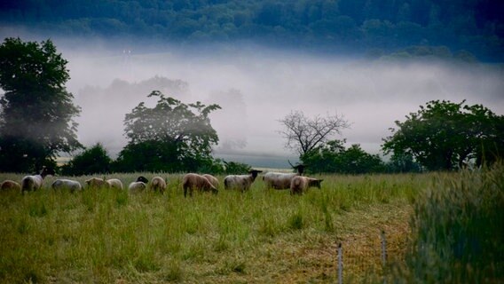
<svg viewBox="0 0 504 284">
<path fill-rule="evenodd" d="M 51 40 L 6 38 L 0 45 L 0 171 L 38 170 L 82 147 L 66 67 Z"/>
</svg>

